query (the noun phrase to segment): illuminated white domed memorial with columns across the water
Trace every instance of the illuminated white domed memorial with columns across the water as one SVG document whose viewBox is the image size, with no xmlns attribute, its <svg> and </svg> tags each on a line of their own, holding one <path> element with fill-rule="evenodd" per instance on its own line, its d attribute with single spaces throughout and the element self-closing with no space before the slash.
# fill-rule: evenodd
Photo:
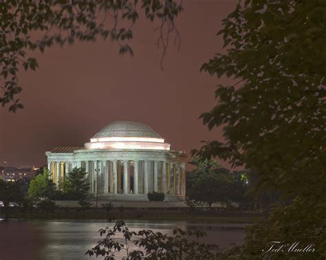
<svg viewBox="0 0 326 260">
<path fill-rule="evenodd" d="M 83 167 L 89 193 L 112 200 L 148 200 L 147 193 L 164 192 L 166 201 L 184 200 L 186 154 L 149 126 L 135 121 L 113 121 L 84 147 L 56 147 L 45 152 L 56 184 L 74 167 Z"/>
</svg>

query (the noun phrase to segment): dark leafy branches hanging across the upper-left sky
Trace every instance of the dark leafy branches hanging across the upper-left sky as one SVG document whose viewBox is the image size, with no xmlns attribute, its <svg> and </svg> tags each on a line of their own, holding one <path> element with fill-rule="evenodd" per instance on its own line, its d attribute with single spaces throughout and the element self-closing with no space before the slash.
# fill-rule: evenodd
<svg viewBox="0 0 326 260">
<path fill-rule="evenodd" d="M 73 44 L 75 40 L 94 41 L 101 37 L 117 42 L 120 54 L 133 54 L 128 41 L 133 37 L 133 25 L 138 21 L 140 10 L 146 19 L 160 21 L 157 47 L 163 49 L 163 57 L 169 34 L 175 32 L 175 41 L 180 43 L 174 23 L 182 12 L 178 1 L 1 1 L 0 88 L 3 97 L 0 104 L 11 104 L 9 110 L 13 112 L 23 108 L 16 98 L 22 91 L 18 73 L 20 67 L 33 71 L 39 67 L 37 60 L 29 57 L 34 49 L 43 52 L 54 44 L 62 46 Z"/>
</svg>

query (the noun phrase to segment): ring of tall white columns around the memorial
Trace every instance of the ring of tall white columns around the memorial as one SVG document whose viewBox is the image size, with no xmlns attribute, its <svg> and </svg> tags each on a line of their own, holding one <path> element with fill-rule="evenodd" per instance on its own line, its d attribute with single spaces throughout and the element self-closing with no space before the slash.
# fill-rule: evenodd
<svg viewBox="0 0 326 260">
<path fill-rule="evenodd" d="M 186 193 L 183 162 L 171 161 L 52 161 L 48 168 L 56 184 L 74 168 L 83 167 L 90 184 L 89 192 L 98 195 L 144 194 L 157 191 L 169 195 Z"/>
</svg>

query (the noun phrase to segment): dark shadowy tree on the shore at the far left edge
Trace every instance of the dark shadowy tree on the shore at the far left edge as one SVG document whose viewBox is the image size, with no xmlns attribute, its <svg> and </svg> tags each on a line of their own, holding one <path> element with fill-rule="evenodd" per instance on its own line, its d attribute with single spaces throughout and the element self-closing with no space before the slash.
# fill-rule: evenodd
<svg viewBox="0 0 326 260">
<path fill-rule="evenodd" d="M 0 200 L 3 202 L 3 207 L 6 211 L 6 219 L 8 219 L 8 208 L 10 203 L 23 202 L 23 191 L 21 183 L 16 181 L 5 181 L 0 179 Z"/>
</svg>

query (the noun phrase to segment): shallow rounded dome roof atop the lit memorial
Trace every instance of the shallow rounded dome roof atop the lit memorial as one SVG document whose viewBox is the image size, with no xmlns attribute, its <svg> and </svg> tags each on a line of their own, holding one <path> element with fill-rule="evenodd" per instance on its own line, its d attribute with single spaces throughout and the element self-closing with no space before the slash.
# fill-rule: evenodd
<svg viewBox="0 0 326 260">
<path fill-rule="evenodd" d="M 96 133 L 93 138 L 100 137 L 162 138 L 151 127 L 135 121 L 113 121 Z"/>
</svg>

